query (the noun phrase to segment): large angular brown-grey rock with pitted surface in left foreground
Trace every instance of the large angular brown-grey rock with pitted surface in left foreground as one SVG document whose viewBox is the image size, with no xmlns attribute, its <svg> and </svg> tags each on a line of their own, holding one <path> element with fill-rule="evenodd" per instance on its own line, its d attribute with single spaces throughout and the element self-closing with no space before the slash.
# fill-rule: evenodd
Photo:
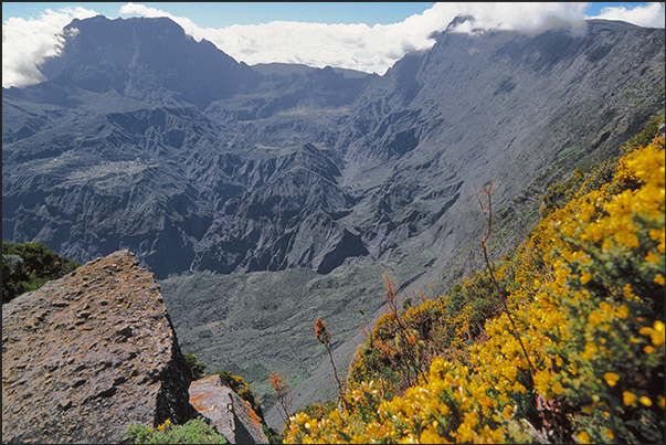
<svg viewBox="0 0 666 445">
<path fill-rule="evenodd" d="M 2 442 L 118 443 L 183 423 L 191 377 L 158 284 L 128 251 L 2 306 Z"/>
</svg>

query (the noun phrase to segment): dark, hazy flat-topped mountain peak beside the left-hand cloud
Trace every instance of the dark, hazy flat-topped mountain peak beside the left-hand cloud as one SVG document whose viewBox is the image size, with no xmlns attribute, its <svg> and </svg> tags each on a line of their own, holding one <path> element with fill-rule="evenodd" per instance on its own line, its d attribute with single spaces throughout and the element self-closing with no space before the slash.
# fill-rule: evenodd
<svg viewBox="0 0 666 445">
<path fill-rule="evenodd" d="M 208 41 L 197 42 L 168 18 L 72 21 L 61 56 L 46 61 L 49 81 L 138 99 L 176 98 L 201 108 L 261 80 Z M 158 95 L 156 91 L 160 91 Z"/>
</svg>

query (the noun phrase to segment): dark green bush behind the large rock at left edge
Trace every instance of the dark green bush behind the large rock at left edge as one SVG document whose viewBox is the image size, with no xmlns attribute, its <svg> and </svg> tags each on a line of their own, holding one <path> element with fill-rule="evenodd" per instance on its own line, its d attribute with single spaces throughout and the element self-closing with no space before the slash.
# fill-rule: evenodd
<svg viewBox="0 0 666 445">
<path fill-rule="evenodd" d="M 62 278 L 80 267 L 46 244 L 2 242 L 2 304 L 19 295 L 36 290 L 51 279 Z"/>
</svg>

